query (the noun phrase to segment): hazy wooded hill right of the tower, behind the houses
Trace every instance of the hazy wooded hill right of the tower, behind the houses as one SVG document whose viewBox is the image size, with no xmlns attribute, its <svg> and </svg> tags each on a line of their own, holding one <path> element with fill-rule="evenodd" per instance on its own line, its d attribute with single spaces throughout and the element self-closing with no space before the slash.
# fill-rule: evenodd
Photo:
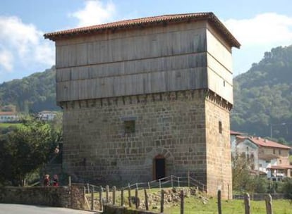
<svg viewBox="0 0 292 214">
<path fill-rule="evenodd" d="M 292 45 L 264 53 L 233 80 L 231 129 L 292 141 Z M 284 140 L 282 139 L 282 140 Z"/>
</svg>

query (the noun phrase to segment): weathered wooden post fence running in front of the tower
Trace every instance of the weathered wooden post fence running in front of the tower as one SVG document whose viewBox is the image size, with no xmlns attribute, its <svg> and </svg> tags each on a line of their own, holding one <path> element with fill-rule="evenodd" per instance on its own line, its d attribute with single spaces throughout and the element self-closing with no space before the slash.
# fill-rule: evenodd
<svg viewBox="0 0 292 214">
<path fill-rule="evenodd" d="M 139 204 L 140 204 L 140 197 L 138 196 L 138 190 L 143 189 L 144 191 L 144 199 L 145 199 L 145 210 L 149 210 L 149 194 L 147 193 L 147 191 L 149 191 L 149 189 L 155 188 L 155 187 L 159 187 L 161 189 L 161 196 L 160 196 L 160 213 L 164 213 L 164 196 L 165 196 L 165 191 L 164 189 L 162 189 L 164 186 L 166 187 L 186 187 L 185 183 L 188 184 L 188 187 L 191 186 L 191 184 L 193 185 L 194 183 L 197 184 L 197 181 L 193 182 L 194 180 L 192 180 L 190 177 L 188 177 L 188 179 L 185 181 L 183 180 L 183 177 L 175 177 L 175 176 L 170 176 L 170 177 L 166 177 L 162 180 L 158 180 L 155 182 L 147 182 L 147 183 L 135 183 L 135 184 L 128 184 L 128 187 L 123 187 L 121 189 L 116 189 L 116 187 L 112 187 L 111 189 L 109 188 L 109 186 L 107 185 L 105 188 L 100 186 L 97 187 L 95 185 L 92 184 L 85 184 L 85 192 L 87 192 L 87 194 L 91 194 L 90 196 L 90 201 L 87 201 L 87 199 L 85 198 L 85 201 L 87 203 L 87 207 L 90 210 L 95 210 L 95 194 L 98 194 L 98 203 L 99 203 L 99 208 L 98 210 L 102 211 L 103 210 L 103 205 L 106 204 L 112 204 L 114 206 L 125 206 L 126 203 L 128 203 L 128 206 L 130 208 L 139 208 Z M 69 182 L 71 182 L 71 180 L 69 179 Z M 166 185 L 168 184 L 168 185 Z M 176 184 L 176 186 L 174 185 Z M 198 183 L 200 184 L 200 182 Z M 146 186 L 145 186 L 146 185 Z M 194 186 L 193 186 L 194 187 Z M 197 186 L 195 186 L 197 188 L 197 190 L 199 191 L 199 188 Z M 200 189 L 204 190 L 205 186 L 203 184 L 200 184 Z M 131 190 L 133 191 L 133 189 L 135 190 L 135 196 L 131 195 Z M 105 198 L 103 198 L 103 195 L 105 194 Z M 110 197 L 111 194 L 111 197 Z M 117 204 L 117 200 L 116 200 L 116 196 L 117 194 L 120 194 L 120 203 Z M 180 198 L 180 206 L 181 206 L 181 214 L 185 213 L 184 210 L 184 199 L 185 199 L 185 192 L 183 190 L 180 191 L 179 194 L 179 198 Z M 127 201 L 126 201 L 127 200 Z M 244 201 L 244 207 L 245 207 L 245 214 L 250 214 L 250 195 L 248 193 L 244 194 L 243 197 L 243 201 Z M 273 213 L 273 208 L 272 208 L 272 196 L 270 194 L 267 194 L 265 197 L 265 204 L 266 204 L 266 211 L 267 214 L 272 214 Z M 218 190 L 217 193 L 217 207 L 218 207 L 218 213 L 222 214 L 222 209 L 221 209 L 221 190 Z M 195 213 L 195 212 L 194 212 Z"/>
</svg>

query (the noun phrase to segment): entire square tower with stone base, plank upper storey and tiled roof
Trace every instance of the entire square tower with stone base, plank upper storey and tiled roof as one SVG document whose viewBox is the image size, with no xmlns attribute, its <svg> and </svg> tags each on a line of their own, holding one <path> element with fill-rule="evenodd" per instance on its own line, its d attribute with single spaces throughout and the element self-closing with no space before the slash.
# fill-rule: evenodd
<svg viewBox="0 0 292 214">
<path fill-rule="evenodd" d="M 162 15 L 44 34 L 56 42 L 63 168 L 99 183 L 188 172 L 231 195 L 231 48 L 213 13 Z"/>
</svg>

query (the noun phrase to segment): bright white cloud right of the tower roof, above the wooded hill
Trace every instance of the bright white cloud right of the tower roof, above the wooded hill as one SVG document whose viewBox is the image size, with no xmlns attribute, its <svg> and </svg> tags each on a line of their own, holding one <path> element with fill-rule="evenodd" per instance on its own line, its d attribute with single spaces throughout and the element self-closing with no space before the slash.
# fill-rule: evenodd
<svg viewBox="0 0 292 214">
<path fill-rule="evenodd" d="M 250 19 L 226 20 L 224 24 L 243 47 L 292 44 L 292 17 L 286 15 L 262 13 Z"/>
</svg>

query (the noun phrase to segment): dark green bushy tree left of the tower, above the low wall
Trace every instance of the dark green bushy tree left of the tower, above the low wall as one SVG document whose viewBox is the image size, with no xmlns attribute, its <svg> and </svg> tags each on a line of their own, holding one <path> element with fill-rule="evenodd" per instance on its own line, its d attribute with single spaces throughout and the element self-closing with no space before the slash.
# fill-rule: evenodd
<svg viewBox="0 0 292 214">
<path fill-rule="evenodd" d="M 23 125 L 0 140 L 0 181 L 23 186 L 25 177 L 49 160 L 54 153 L 56 130 L 49 123 L 26 118 Z"/>
</svg>

